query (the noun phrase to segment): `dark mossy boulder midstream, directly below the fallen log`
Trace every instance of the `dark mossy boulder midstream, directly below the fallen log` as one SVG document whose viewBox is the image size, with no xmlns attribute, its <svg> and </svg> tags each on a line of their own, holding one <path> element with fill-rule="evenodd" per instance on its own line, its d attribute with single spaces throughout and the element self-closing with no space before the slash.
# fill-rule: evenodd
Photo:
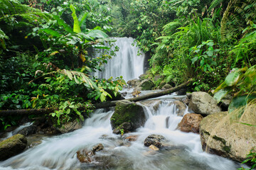
<svg viewBox="0 0 256 170">
<path fill-rule="evenodd" d="M 112 129 L 117 128 L 122 123 L 131 123 L 131 131 L 143 126 L 146 122 L 144 109 L 131 101 L 119 101 L 111 117 Z"/>
</svg>

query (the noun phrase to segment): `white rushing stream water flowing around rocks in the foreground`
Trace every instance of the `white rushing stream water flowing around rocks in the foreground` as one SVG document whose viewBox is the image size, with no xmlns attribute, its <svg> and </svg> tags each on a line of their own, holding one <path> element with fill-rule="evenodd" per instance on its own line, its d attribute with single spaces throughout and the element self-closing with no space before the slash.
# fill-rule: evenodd
<svg viewBox="0 0 256 170">
<path fill-rule="evenodd" d="M 181 117 L 176 115 L 174 105 L 168 106 L 174 96 L 164 97 L 158 111 L 144 107 L 148 118 L 137 132 L 124 135 L 139 135 L 136 142 L 127 142 L 124 137 L 112 133 L 110 118 L 113 111 L 97 110 L 85 120 L 82 129 L 64 135 L 48 137 L 41 145 L 28 149 L 16 157 L 0 162 L 0 169 L 161 169 L 161 170 L 235 170 L 234 162 L 207 154 L 201 149 L 200 137 L 194 133 L 176 130 Z M 168 123 L 166 118 L 169 117 Z M 148 135 L 163 135 L 169 141 L 169 149 L 159 152 L 144 147 Z M 102 137 L 104 135 L 104 137 Z M 107 137 L 105 137 L 107 136 Z M 107 165 L 80 164 L 76 159 L 79 149 L 92 149 L 102 143 L 104 149 L 97 155 L 108 157 Z"/>
</svg>

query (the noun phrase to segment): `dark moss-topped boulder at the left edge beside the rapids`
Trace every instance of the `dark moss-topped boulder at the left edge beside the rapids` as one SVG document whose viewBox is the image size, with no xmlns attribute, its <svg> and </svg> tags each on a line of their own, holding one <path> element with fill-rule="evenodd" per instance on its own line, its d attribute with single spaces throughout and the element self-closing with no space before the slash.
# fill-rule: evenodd
<svg viewBox="0 0 256 170">
<path fill-rule="evenodd" d="M 0 161 L 21 153 L 26 148 L 27 143 L 26 137 L 21 134 L 14 135 L 0 142 Z"/>
</svg>

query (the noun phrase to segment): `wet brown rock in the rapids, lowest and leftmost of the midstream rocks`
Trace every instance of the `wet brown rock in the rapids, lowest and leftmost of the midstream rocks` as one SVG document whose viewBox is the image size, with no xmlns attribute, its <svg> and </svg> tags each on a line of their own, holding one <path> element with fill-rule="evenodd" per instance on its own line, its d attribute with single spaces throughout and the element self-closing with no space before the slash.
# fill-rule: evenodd
<svg viewBox="0 0 256 170">
<path fill-rule="evenodd" d="M 77 152 L 77 158 L 81 163 L 90 163 L 92 162 L 93 156 L 95 155 L 95 152 L 99 152 L 103 149 L 102 144 L 95 145 L 95 147 L 92 147 L 92 150 L 88 151 L 87 149 L 82 149 Z"/>
</svg>

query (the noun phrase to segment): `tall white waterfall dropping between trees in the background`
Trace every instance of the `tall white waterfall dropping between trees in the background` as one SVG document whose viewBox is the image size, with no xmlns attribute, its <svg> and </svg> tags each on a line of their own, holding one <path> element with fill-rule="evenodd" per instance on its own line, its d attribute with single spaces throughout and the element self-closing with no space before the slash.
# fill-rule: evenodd
<svg viewBox="0 0 256 170">
<path fill-rule="evenodd" d="M 122 76 L 125 81 L 139 78 L 143 74 L 144 54 L 138 56 L 139 48 L 133 38 L 114 38 L 114 45 L 119 47 L 116 57 L 105 64 L 102 72 L 96 72 L 94 76 L 109 79 Z M 134 45 L 132 45 L 134 43 Z M 114 50 L 114 47 L 112 47 Z M 100 55 L 100 54 L 97 54 Z"/>
</svg>

